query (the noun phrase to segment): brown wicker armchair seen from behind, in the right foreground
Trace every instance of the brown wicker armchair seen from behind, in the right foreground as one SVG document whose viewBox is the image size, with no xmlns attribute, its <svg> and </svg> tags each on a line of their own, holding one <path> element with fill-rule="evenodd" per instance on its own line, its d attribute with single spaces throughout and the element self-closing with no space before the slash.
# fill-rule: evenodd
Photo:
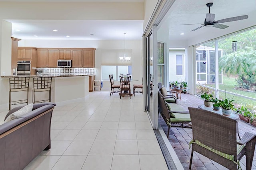
<svg viewBox="0 0 256 170">
<path fill-rule="evenodd" d="M 189 169 L 196 151 L 230 170 L 240 169 L 239 160 L 246 155 L 246 169 L 252 168 L 256 135 L 245 132 L 236 141 L 236 120 L 203 109 L 188 107 L 193 139 Z M 245 146 L 244 146 L 245 144 Z"/>
</svg>

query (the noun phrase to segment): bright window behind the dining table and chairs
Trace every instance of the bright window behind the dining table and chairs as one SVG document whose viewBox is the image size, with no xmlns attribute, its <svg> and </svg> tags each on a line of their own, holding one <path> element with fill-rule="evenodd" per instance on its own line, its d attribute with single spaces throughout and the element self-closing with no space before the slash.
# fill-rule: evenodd
<svg viewBox="0 0 256 170">
<path fill-rule="evenodd" d="M 113 74 L 114 80 L 120 80 L 120 74 L 129 74 L 132 76 L 132 66 L 101 66 L 102 80 L 109 80 L 110 74 Z"/>
</svg>

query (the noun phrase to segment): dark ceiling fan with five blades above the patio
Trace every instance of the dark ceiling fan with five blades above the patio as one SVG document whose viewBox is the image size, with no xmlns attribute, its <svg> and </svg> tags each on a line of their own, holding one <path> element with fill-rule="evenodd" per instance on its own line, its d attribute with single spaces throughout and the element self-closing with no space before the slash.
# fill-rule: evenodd
<svg viewBox="0 0 256 170">
<path fill-rule="evenodd" d="M 204 23 L 191 23 L 191 24 L 181 24 L 181 25 L 196 25 L 196 24 L 201 24 L 202 25 L 202 26 L 197 27 L 196 29 L 193 29 L 191 31 L 196 31 L 197 29 L 200 29 L 200 28 L 208 26 L 208 25 L 216 27 L 216 28 L 224 29 L 224 28 L 227 28 L 228 25 L 224 25 L 224 24 L 220 24 L 220 23 L 244 20 L 244 19 L 248 18 L 248 15 L 244 15 L 244 16 L 236 16 L 236 17 L 225 18 L 225 19 L 222 19 L 222 20 L 214 21 L 215 14 L 210 13 L 210 8 L 212 7 L 212 5 L 213 5 L 212 2 L 206 4 L 206 6 L 209 8 L 209 13 L 206 14 L 206 18 L 204 19 Z"/>
</svg>

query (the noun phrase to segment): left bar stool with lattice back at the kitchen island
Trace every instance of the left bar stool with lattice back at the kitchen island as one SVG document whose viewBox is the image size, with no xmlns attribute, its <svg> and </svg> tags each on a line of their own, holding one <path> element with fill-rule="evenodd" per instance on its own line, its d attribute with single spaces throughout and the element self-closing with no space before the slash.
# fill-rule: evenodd
<svg viewBox="0 0 256 170">
<path fill-rule="evenodd" d="M 14 77 L 9 79 L 10 91 L 9 91 L 9 110 L 11 105 L 16 104 L 28 104 L 28 86 L 29 86 L 29 77 Z M 11 92 L 21 92 L 27 91 L 27 99 L 24 100 L 11 100 Z M 13 103 L 13 104 L 12 104 Z"/>
</svg>

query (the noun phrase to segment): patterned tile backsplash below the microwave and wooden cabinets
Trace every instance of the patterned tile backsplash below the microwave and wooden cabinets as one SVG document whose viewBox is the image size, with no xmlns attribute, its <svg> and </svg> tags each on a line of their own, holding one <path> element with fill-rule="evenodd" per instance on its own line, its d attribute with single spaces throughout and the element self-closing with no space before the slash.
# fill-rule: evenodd
<svg viewBox="0 0 256 170">
<path fill-rule="evenodd" d="M 72 68 L 72 67 L 58 67 L 58 68 L 43 68 L 44 74 L 63 75 L 63 74 L 94 74 L 95 68 Z"/>
</svg>

